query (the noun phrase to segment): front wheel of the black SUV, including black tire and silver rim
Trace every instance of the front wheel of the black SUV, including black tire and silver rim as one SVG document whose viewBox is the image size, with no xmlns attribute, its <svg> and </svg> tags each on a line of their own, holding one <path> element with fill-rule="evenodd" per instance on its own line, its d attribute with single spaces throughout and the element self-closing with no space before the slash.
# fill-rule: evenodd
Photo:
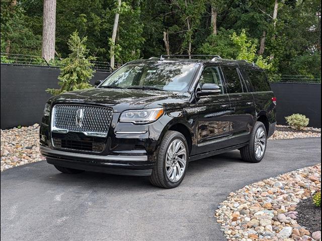
<svg viewBox="0 0 322 241">
<path fill-rule="evenodd" d="M 156 165 L 149 178 L 152 185 L 174 188 L 186 175 L 189 151 L 186 138 L 176 131 L 168 131 L 156 150 Z"/>
</svg>

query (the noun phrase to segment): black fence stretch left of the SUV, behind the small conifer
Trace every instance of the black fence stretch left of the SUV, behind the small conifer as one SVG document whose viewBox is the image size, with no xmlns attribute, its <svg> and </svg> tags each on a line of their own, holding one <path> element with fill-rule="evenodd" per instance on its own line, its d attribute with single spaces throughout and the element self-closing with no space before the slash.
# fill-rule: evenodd
<svg viewBox="0 0 322 241">
<path fill-rule="evenodd" d="M 59 69 L 1 64 L 1 129 L 40 123 L 44 104 L 51 97 L 45 90 L 59 88 Z M 94 73 L 91 84 L 111 72 Z"/>
</svg>

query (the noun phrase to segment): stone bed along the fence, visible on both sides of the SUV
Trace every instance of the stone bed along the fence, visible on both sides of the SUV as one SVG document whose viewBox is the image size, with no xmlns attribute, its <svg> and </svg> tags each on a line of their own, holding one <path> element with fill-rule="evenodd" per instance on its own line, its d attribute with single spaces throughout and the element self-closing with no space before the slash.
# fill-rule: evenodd
<svg viewBox="0 0 322 241">
<path fill-rule="evenodd" d="M 15 166 L 44 160 L 39 153 L 39 125 L 1 130 L 1 171 Z M 301 131 L 277 126 L 271 140 L 320 137 L 321 129 L 305 128 Z"/>
</svg>

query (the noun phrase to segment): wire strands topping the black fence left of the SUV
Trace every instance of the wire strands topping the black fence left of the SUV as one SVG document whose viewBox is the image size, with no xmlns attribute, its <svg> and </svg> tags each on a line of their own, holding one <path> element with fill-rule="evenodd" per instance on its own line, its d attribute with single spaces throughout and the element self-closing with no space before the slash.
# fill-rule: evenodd
<svg viewBox="0 0 322 241">
<path fill-rule="evenodd" d="M 112 71 L 111 65 L 106 61 L 90 61 L 94 64 L 94 70 Z M 55 58 L 47 62 L 44 58 L 37 55 L 25 55 L 25 54 L 7 54 L 1 53 L 2 64 L 17 64 L 17 65 L 33 65 L 33 66 L 49 66 L 60 68 L 63 66 L 60 59 Z M 119 68 L 122 64 L 116 63 L 115 68 Z"/>
</svg>

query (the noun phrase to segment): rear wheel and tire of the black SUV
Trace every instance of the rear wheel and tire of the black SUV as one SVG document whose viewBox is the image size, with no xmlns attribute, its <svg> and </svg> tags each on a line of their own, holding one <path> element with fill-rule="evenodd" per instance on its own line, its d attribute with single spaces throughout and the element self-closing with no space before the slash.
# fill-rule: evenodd
<svg viewBox="0 0 322 241">
<path fill-rule="evenodd" d="M 249 144 L 239 149 L 241 159 L 246 162 L 258 163 L 262 161 L 267 144 L 267 134 L 262 122 L 256 122 Z"/>
</svg>

